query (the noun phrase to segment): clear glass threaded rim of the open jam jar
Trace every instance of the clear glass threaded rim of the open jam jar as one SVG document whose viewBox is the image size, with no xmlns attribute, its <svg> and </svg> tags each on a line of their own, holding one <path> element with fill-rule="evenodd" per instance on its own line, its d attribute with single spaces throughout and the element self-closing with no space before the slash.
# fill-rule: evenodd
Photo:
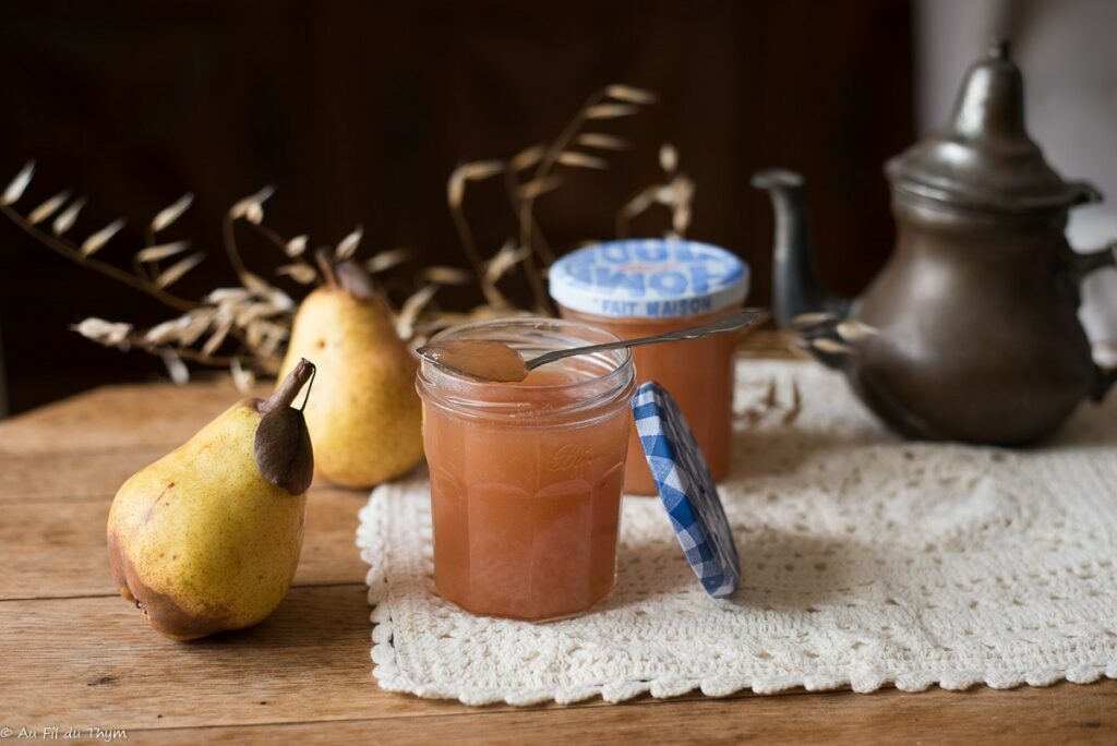
<svg viewBox="0 0 1117 746">
<path fill-rule="evenodd" d="M 562 334 L 563 332 L 566 334 Z M 512 316 L 458 324 L 442 329 L 431 337 L 430 342 L 462 338 L 496 338 L 515 348 L 538 350 L 541 354 L 550 350 L 566 350 L 583 344 L 620 341 L 620 337 L 612 332 L 592 324 L 542 316 Z M 538 346 L 525 346 L 525 341 L 534 341 Z M 563 342 L 567 344 L 562 344 Z M 628 347 L 622 347 L 593 353 L 585 357 L 592 357 L 596 366 L 607 370 L 603 370 L 600 375 L 589 375 L 576 381 L 543 383 L 532 386 L 498 381 L 479 381 L 422 360 L 416 377 L 416 388 L 424 401 L 450 409 L 459 414 L 475 417 L 551 419 L 591 411 L 618 401 L 623 401 L 627 407 L 628 399 L 636 388 L 631 351 Z M 483 391 L 499 392 L 500 399 L 498 401 L 481 399 L 478 394 Z M 541 391 L 562 391 L 571 394 L 569 396 L 570 403 L 541 412 L 537 407 L 532 407 L 531 398 L 517 399 L 516 396 L 518 392 L 538 393 Z M 577 395 L 580 392 L 584 392 L 584 396 Z M 628 396 L 626 396 L 626 392 L 629 394 Z"/>
</svg>

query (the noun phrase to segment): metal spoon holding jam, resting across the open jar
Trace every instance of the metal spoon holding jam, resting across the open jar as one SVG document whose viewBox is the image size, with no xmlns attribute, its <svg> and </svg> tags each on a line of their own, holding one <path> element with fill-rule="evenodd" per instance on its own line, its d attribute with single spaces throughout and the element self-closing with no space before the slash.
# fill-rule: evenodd
<svg viewBox="0 0 1117 746">
<path fill-rule="evenodd" d="M 584 347 L 570 347 L 567 350 L 555 350 L 538 357 L 523 361 L 519 353 L 508 345 L 494 339 L 458 339 L 447 343 L 433 343 L 419 347 L 416 352 L 441 367 L 469 375 L 481 381 L 493 382 L 517 382 L 527 377 L 527 374 L 556 360 L 573 357 L 575 355 L 586 355 L 607 350 L 620 350 L 621 347 L 638 347 L 646 344 L 658 344 L 660 342 L 679 342 L 681 339 L 698 339 L 710 334 L 722 334 L 734 329 L 746 328 L 757 324 L 767 317 L 767 313 L 758 308 L 742 308 L 728 316 L 723 316 L 708 324 L 699 324 L 675 332 L 656 334 L 650 337 L 637 337 L 636 339 L 621 339 L 619 342 L 605 342 L 592 344 Z M 509 355 L 510 353 L 510 355 Z M 522 365 L 515 358 L 519 358 Z M 499 357 L 499 361 L 495 358 Z M 509 363 L 509 361 L 512 361 Z M 494 364 L 498 363 L 498 364 Z"/>
</svg>

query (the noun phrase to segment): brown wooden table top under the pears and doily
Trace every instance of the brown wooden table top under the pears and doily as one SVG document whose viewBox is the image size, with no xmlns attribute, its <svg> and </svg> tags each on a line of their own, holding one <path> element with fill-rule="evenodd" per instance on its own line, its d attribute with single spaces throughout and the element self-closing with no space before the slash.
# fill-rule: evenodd
<svg viewBox="0 0 1117 746">
<path fill-rule="evenodd" d="M 239 394 L 227 384 L 97 389 L 0 423 L 0 736 L 125 729 L 130 740 L 1117 743 L 1117 681 L 643 697 L 623 705 L 469 708 L 381 691 L 372 677 L 367 498 L 315 484 L 294 587 L 262 624 L 190 643 L 121 599 L 105 557 L 120 485 Z"/>
</svg>

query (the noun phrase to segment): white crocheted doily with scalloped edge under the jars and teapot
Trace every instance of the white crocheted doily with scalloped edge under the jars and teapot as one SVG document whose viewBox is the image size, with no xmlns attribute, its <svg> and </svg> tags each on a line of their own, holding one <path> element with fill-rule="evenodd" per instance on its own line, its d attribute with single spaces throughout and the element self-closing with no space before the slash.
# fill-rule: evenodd
<svg viewBox="0 0 1117 746">
<path fill-rule="evenodd" d="M 901 441 L 814 364 L 745 360 L 738 381 L 734 596 L 708 597 L 659 500 L 630 497 L 591 613 L 472 616 L 433 591 L 427 482 L 389 485 L 357 532 L 380 686 L 527 705 L 1117 678 L 1117 403 L 1010 451 Z"/>
</svg>

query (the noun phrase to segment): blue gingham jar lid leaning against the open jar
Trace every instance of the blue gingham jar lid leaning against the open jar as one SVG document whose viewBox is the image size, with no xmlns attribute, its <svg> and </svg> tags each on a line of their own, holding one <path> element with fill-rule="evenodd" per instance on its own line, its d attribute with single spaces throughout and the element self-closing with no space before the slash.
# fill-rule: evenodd
<svg viewBox="0 0 1117 746">
<path fill-rule="evenodd" d="M 703 587 L 715 599 L 741 582 L 741 561 L 698 443 L 667 390 L 655 381 L 637 389 L 632 413 L 671 528 Z M 633 455 L 636 456 L 636 455 Z"/>
</svg>

